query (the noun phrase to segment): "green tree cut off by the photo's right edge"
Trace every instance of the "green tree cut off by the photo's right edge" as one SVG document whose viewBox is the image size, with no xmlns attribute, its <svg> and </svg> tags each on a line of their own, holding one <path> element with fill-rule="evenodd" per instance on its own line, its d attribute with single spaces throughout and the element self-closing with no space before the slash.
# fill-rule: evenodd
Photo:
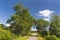
<svg viewBox="0 0 60 40">
<path fill-rule="evenodd" d="M 54 15 L 50 24 L 50 34 L 57 35 L 60 32 L 60 17 Z"/>
</svg>

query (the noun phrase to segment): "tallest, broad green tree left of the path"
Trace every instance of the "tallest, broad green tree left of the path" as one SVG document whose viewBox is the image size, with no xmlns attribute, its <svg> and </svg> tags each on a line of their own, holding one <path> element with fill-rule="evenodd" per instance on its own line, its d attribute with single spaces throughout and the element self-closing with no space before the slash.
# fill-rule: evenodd
<svg viewBox="0 0 60 40">
<path fill-rule="evenodd" d="M 11 32 L 15 34 L 29 32 L 34 25 L 34 18 L 30 15 L 28 9 L 21 4 L 17 4 L 14 10 L 16 11 L 15 14 L 7 21 L 7 23 L 11 24 Z"/>
</svg>

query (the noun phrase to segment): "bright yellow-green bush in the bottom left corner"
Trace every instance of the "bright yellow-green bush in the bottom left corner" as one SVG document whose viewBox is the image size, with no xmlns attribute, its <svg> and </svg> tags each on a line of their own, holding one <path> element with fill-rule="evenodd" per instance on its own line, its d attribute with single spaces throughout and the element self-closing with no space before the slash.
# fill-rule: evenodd
<svg viewBox="0 0 60 40">
<path fill-rule="evenodd" d="M 15 36 L 8 30 L 0 30 L 0 40 L 15 40 Z"/>
</svg>

